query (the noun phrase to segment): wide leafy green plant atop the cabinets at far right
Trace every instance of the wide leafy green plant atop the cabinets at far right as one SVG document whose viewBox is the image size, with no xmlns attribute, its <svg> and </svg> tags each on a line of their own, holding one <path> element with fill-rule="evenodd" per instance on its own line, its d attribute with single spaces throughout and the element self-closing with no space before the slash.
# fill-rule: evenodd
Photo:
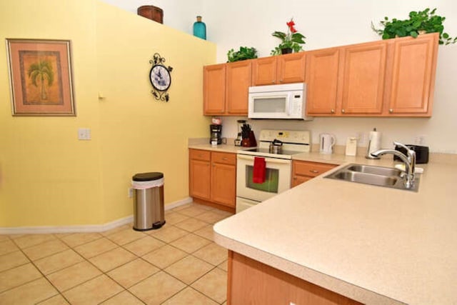
<svg viewBox="0 0 457 305">
<path fill-rule="evenodd" d="M 383 29 L 376 29 L 371 23 L 371 29 L 376 31 L 382 39 L 391 39 L 395 37 L 412 36 L 416 38 L 419 34 L 439 33 L 439 44 L 455 44 L 457 37 L 452 38 L 449 34 L 444 33 L 443 21 L 446 17 L 436 15 L 436 9 L 424 9 L 423 11 L 411 11 L 409 19 L 399 20 L 393 18 L 389 20 L 384 17 L 380 22 Z"/>
</svg>

